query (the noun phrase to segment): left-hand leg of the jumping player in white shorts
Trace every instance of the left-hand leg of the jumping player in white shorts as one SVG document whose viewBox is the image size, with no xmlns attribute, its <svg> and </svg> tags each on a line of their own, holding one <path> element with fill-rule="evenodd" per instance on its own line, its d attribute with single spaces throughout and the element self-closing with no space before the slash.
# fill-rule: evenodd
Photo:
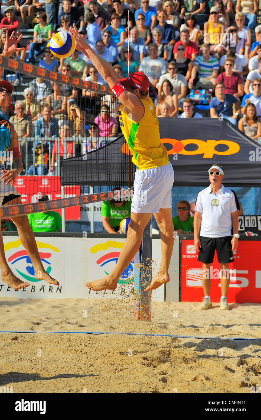
<svg viewBox="0 0 261 420">
<path fill-rule="evenodd" d="M 130 213 L 127 239 L 120 252 L 117 264 L 108 276 L 101 280 L 91 281 L 86 287 L 91 290 L 115 290 L 120 275 L 134 258 L 141 245 L 142 235 L 146 224 L 149 222 L 152 213 Z"/>
</svg>

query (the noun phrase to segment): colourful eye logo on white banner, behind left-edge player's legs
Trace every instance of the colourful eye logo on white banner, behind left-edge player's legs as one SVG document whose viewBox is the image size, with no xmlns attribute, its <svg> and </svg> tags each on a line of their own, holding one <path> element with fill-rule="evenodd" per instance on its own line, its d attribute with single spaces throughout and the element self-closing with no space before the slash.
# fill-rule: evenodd
<svg viewBox="0 0 261 420">
<path fill-rule="evenodd" d="M 17 250 L 18 248 L 22 248 Z M 55 260 L 55 252 L 60 252 L 60 249 L 46 244 L 44 242 L 37 241 L 37 248 L 39 249 L 39 255 L 44 266 L 44 269 L 48 274 L 52 271 L 52 262 Z M 34 277 L 34 267 L 31 262 L 27 251 L 22 247 L 20 239 L 17 241 L 10 241 L 4 246 L 5 252 L 8 253 L 8 262 L 15 273 L 15 271 L 27 281 L 41 281 Z M 11 255 L 10 255 L 10 251 Z"/>
</svg>

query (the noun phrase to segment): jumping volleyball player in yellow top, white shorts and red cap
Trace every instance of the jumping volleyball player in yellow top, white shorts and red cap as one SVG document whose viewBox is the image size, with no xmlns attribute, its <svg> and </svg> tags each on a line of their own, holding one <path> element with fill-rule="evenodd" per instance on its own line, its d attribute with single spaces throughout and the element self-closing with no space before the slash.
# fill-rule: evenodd
<svg viewBox="0 0 261 420">
<path fill-rule="evenodd" d="M 127 239 L 117 264 L 108 276 L 91 281 L 86 286 L 96 291 L 116 289 L 121 273 L 138 252 L 144 228 L 154 214 L 161 231 L 162 262 L 157 276 L 146 290 L 157 289 L 170 281 L 168 269 L 174 244 L 171 214 L 174 172 L 167 150 L 160 142 L 156 109 L 148 96 L 149 79 L 143 73 L 132 73 L 127 79 L 119 81 L 119 74 L 91 49 L 76 26 L 73 25 L 69 31 L 76 41 L 76 48 L 89 58 L 123 104 L 120 107 L 120 123 L 133 154 L 133 163 L 138 166 Z"/>
</svg>

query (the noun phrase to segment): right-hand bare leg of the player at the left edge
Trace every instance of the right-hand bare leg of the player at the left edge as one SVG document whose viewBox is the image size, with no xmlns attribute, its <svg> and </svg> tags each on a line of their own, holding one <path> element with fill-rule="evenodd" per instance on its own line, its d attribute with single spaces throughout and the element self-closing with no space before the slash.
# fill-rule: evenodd
<svg viewBox="0 0 261 420">
<path fill-rule="evenodd" d="M 14 200 L 9 201 L 5 205 L 17 205 L 22 204 L 20 198 L 16 198 Z M 37 249 L 36 240 L 34 234 L 31 230 L 31 226 L 29 225 L 29 220 L 27 216 L 18 216 L 11 218 L 13 223 L 16 225 L 18 230 L 18 235 L 21 240 L 21 244 L 28 252 L 28 255 L 31 259 L 31 262 L 34 267 L 34 276 L 37 280 L 44 280 L 47 281 L 49 284 L 55 284 L 59 286 L 59 283 L 55 278 L 52 278 L 45 270 L 44 266 L 42 265 L 42 261 Z"/>
</svg>

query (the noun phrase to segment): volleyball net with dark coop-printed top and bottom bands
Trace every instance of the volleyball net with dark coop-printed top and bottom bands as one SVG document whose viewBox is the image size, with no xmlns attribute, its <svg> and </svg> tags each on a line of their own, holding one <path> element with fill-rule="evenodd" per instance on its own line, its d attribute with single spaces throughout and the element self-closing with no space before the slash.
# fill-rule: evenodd
<svg viewBox="0 0 261 420">
<path fill-rule="evenodd" d="M 72 68 L 66 63 L 57 73 L 0 56 L 0 66 L 11 84 L 17 74 L 21 80 L 5 113 L 23 161 L 14 186 L 24 207 L 11 212 L 39 211 L 41 194 L 55 200 L 45 203 L 51 209 L 84 204 L 83 195 L 89 196 L 86 203 L 108 199 L 114 187 L 132 189 L 135 169 L 118 124 L 120 102 L 110 87 L 91 81 L 100 78 L 97 69 L 90 64 L 90 76 L 82 80 L 68 76 Z M 0 153 L 5 168 L 12 169 L 12 154 Z"/>
</svg>

